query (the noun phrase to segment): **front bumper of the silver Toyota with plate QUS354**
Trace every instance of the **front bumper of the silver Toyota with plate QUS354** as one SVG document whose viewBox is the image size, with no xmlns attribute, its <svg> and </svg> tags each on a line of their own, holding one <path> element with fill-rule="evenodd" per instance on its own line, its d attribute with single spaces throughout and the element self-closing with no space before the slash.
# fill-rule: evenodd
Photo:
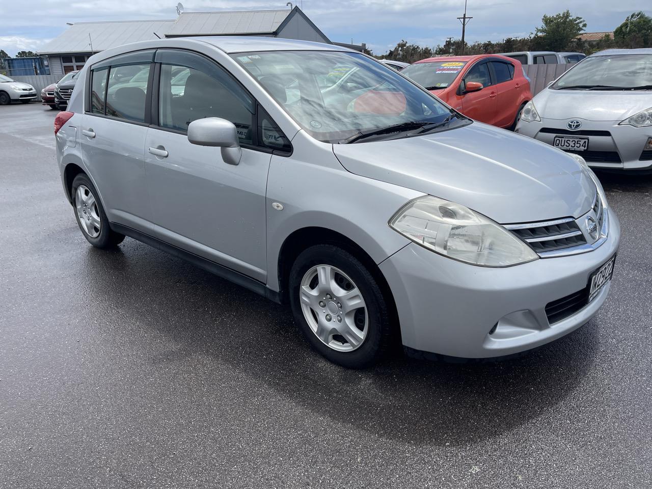
<svg viewBox="0 0 652 489">
<path fill-rule="evenodd" d="M 619 121 L 582 122 L 579 130 L 571 131 L 567 124 L 572 119 L 546 119 L 519 121 L 516 132 L 553 144 L 555 136 L 581 136 L 589 138 L 588 151 L 576 151 L 591 168 L 608 170 L 652 170 L 652 150 L 645 151 L 645 143 L 652 138 L 652 126 L 634 127 L 618 125 Z M 596 135 L 600 134 L 600 135 Z"/>
</svg>

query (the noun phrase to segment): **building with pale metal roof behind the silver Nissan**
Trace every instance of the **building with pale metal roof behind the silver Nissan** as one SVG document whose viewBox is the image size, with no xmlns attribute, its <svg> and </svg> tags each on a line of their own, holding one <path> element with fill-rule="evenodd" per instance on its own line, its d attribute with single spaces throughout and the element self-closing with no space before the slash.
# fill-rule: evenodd
<svg viewBox="0 0 652 489">
<path fill-rule="evenodd" d="M 331 43 L 300 8 L 241 12 L 183 12 L 177 20 L 80 22 L 39 51 L 48 55 L 50 73 L 63 75 L 83 67 L 96 52 L 156 37 L 267 36 Z"/>
</svg>

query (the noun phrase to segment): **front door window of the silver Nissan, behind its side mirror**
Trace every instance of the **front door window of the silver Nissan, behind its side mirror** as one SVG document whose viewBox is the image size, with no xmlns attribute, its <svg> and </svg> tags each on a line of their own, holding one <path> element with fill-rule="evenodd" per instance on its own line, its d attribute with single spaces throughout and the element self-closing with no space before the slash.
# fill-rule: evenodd
<svg viewBox="0 0 652 489">
<path fill-rule="evenodd" d="M 159 125 L 187 131 L 192 121 L 219 117 L 235 125 L 242 144 L 252 144 L 254 101 L 244 89 L 203 57 L 183 52 L 169 57 L 179 64 L 165 63 L 166 55 L 162 55 Z"/>
</svg>

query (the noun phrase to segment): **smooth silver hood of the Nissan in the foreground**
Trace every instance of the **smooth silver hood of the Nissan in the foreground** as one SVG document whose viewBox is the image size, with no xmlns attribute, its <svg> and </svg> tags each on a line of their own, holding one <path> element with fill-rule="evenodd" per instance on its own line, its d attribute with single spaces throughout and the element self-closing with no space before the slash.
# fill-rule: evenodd
<svg viewBox="0 0 652 489">
<path fill-rule="evenodd" d="M 466 205 L 496 222 L 534 222 L 591 208 L 595 185 L 554 147 L 474 122 L 389 141 L 335 144 L 346 170 Z"/>
</svg>

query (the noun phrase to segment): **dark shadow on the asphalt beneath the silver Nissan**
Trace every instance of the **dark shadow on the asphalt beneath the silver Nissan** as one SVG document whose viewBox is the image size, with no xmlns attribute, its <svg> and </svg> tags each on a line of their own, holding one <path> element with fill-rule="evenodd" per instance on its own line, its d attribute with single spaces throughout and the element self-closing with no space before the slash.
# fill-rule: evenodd
<svg viewBox="0 0 652 489">
<path fill-rule="evenodd" d="M 131 239 L 84 256 L 70 265 L 94 271 L 91 292 L 104 311 L 93 319 L 97 329 L 119 326 L 112 334 L 134 338 L 149 329 L 177 345 L 152 363 L 207 355 L 315 415 L 418 445 L 465 445 L 526 424 L 572 393 L 599 351 L 593 319 L 520 359 L 449 364 L 395 355 L 347 370 L 313 353 L 286 306 L 179 259 Z M 121 318 L 130 321 L 116 324 Z"/>
</svg>

